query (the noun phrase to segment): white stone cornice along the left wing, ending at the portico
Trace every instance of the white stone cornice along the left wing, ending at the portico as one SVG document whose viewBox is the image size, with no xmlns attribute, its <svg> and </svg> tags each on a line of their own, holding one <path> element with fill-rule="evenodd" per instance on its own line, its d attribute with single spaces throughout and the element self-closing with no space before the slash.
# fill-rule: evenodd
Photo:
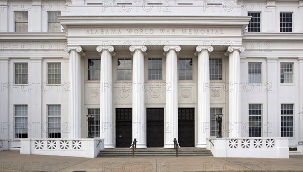
<svg viewBox="0 0 303 172">
<path fill-rule="evenodd" d="M 65 40 L 67 38 L 63 32 L 1 32 L 1 40 Z"/>
</svg>

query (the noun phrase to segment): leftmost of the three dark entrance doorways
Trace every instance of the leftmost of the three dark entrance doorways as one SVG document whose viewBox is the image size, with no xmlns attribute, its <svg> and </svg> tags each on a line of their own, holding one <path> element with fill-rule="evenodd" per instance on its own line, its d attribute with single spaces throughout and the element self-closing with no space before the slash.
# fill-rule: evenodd
<svg viewBox="0 0 303 172">
<path fill-rule="evenodd" d="M 116 108 L 116 147 L 132 143 L 132 108 Z"/>
</svg>

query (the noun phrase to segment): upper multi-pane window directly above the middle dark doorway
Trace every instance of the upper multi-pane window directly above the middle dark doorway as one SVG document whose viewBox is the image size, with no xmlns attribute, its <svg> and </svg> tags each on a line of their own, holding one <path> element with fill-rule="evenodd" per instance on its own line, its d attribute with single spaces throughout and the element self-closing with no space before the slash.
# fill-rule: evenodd
<svg viewBox="0 0 303 172">
<path fill-rule="evenodd" d="M 162 59 L 148 59 L 148 79 L 162 80 Z"/>
</svg>

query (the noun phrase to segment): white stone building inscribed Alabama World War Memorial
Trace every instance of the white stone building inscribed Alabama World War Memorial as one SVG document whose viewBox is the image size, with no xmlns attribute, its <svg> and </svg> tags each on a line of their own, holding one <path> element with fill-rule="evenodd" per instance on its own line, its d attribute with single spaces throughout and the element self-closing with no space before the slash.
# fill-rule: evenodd
<svg viewBox="0 0 303 172">
<path fill-rule="evenodd" d="M 1 139 L 303 141 L 303 1 L 0 1 Z"/>
</svg>

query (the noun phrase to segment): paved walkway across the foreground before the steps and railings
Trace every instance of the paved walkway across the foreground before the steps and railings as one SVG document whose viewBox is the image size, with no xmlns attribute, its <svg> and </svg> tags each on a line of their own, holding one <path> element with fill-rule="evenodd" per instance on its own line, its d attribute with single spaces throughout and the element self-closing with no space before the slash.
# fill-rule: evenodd
<svg viewBox="0 0 303 172">
<path fill-rule="evenodd" d="M 125 157 L 79 158 L 0 152 L 1 171 L 303 171 L 303 156 L 279 158 Z"/>
</svg>

